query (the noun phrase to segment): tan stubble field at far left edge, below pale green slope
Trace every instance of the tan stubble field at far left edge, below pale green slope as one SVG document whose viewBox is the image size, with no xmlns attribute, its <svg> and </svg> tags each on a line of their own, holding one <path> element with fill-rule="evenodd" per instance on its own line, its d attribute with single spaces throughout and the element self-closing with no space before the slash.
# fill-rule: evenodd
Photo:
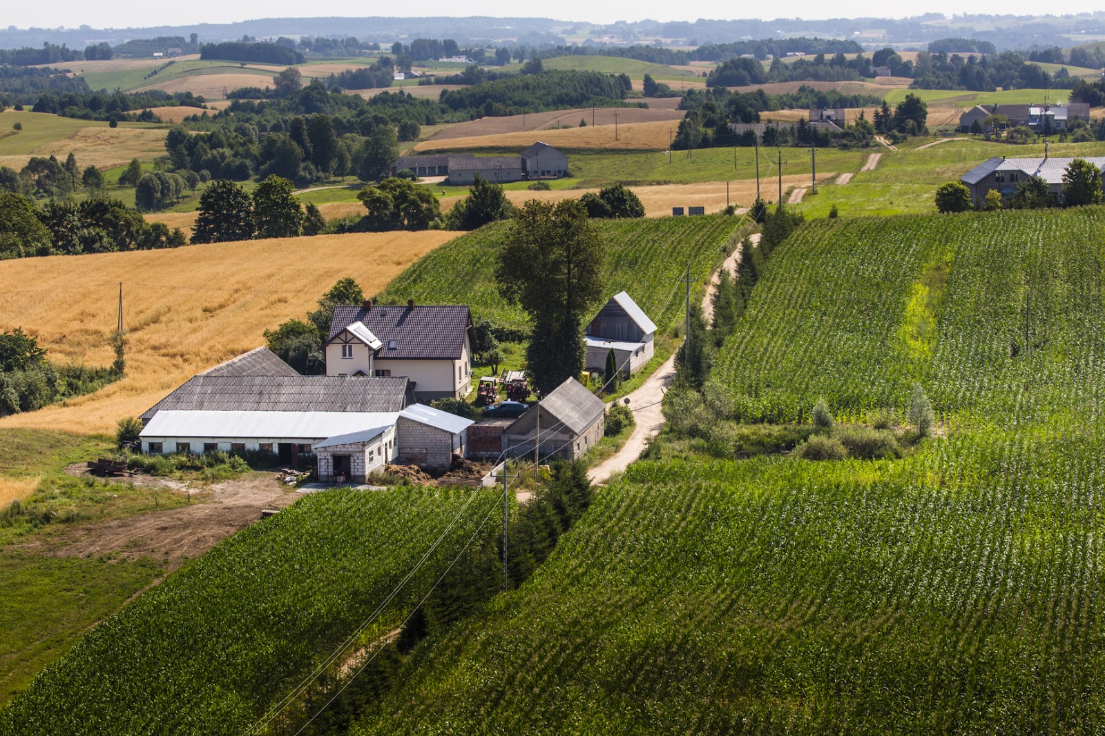
<svg viewBox="0 0 1105 736">
<path fill-rule="evenodd" d="M 165 153 L 167 131 L 158 128 L 82 128 L 73 135 L 44 143 L 27 156 L 0 156 L 0 164 L 21 169 L 32 156 L 65 159 L 72 151 L 83 168 L 123 166 L 137 158 L 151 161 Z"/>
</svg>

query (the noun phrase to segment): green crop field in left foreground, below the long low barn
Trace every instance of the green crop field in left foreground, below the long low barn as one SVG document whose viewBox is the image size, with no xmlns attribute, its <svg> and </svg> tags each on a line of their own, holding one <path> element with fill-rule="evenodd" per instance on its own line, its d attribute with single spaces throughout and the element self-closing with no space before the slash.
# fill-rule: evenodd
<svg viewBox="0 0 1105 736">
<path fill-rule="evenodd" d="M 307 495 L 86 633 L 0 734 L 241 734 L 335 649 L 400 623 L 498 509 L 472 489 Z"/>
</svg>

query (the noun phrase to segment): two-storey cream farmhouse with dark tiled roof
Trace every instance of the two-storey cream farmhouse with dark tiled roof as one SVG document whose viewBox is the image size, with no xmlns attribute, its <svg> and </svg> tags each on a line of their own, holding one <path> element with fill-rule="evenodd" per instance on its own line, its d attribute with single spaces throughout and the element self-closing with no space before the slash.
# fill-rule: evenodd
<svg viewBox="0 0 1105 736">
<path fill-rule="evenodd" d="M 475 331 L 466 306 L 341 305 L 326 341 L 328 376 L 404 377 L 420 401 L 463 398 Z"/>
</svg>

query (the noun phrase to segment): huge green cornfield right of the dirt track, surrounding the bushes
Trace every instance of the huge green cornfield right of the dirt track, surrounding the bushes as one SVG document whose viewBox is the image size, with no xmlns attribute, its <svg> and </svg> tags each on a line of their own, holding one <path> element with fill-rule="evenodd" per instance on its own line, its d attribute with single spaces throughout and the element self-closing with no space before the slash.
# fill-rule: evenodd
<svg viewBox="0 0 1105 736">
<path fill-rule="evenodd" d="M 899 367 L 907 287 L 951 248 L 920 361 L 949 437 L 904 460 L 634 466 L 354 733 L 1099 730 L 1101 218 L 800 231 L 724 348 L 749 380 L 722 378 L 877 406 L 919 360 Z M 1018 363 L 1025 299 L 1043 343 Z"/>
</svg>

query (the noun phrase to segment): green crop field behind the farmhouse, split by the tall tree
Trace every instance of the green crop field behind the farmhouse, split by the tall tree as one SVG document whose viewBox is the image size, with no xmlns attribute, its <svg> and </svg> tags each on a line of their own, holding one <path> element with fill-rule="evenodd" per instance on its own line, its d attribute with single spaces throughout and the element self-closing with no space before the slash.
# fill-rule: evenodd
<svg viewBox="0 0 1105 736">
<path fill-rule="evenodd" d="M 684 266 L 690 260 L 692 274 L 712 271 L 736 224 L 723 215 L 598 222 L 607 252 L 606 292 L 629 291 L 661 330 L 666 329 L 682 309 L 672 295 Z M 467 303 L 477 320 L 524 326 L 525 313 L 498 296 L 494 281 L 495 259 L 508 228 L 507 223 L 487 225 L 443 245 L 400 274 L 376 300 Z"/>
</svg>

